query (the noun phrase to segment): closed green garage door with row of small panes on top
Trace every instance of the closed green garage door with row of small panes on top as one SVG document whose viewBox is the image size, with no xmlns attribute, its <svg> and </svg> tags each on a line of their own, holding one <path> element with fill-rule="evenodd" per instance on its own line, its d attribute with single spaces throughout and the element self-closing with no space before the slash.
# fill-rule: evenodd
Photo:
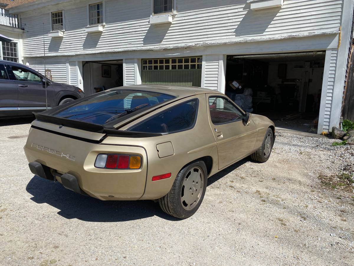
<svg viewBox="0 0 354 266">
<path fill-rule="evenodd" d="M 143 84 L 201 85 L 202 57 L 143 59 Z"/>
</svg>

